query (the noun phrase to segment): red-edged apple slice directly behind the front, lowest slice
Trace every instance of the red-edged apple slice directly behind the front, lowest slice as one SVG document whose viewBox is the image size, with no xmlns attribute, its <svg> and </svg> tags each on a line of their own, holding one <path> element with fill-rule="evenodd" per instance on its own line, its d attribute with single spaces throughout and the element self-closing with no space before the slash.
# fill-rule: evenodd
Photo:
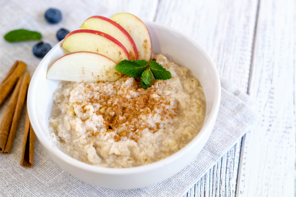
<svg viewBox="0 0 296 197">
<path fill-rule="evenodd" d="M 117 64 L 124 59 L 130 60 L 126 48 L 112 36 L 95 30 L 75 30 L 70 32 L 62 44 L 68 51 L 89 51 L 105 55 Z"/>
</svg>

